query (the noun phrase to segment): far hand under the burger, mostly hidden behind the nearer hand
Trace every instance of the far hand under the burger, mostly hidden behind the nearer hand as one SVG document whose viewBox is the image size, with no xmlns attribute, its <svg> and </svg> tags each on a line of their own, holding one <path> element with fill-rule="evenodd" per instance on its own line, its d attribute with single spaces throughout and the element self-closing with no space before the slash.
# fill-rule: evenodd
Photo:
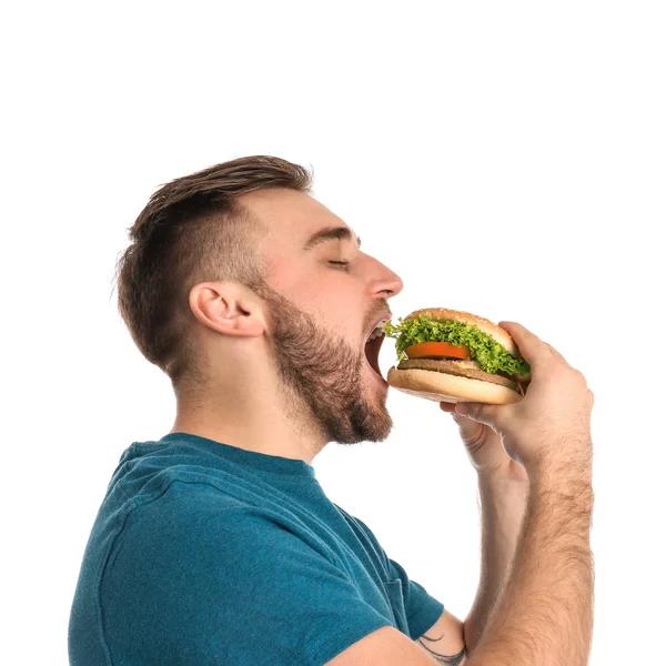
<svg viewBox="0 0 666 666">
<path fill-rule="evenodd" d="M 457 423 L 470 461 L 480 476 L 492 476 L 503 481 L 527 481 L 525 467 L 511 460 L 502 446 L 502 437 L 492 427 L 456 414 L 453 403 L 441 402 L 440 407 L 451 414 Z"/>
</svg>

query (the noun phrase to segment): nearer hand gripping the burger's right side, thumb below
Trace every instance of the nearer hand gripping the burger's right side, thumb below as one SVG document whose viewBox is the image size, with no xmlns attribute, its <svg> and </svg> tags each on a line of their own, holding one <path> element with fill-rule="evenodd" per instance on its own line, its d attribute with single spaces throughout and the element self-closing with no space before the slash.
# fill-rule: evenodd
<svg viewBox="0 0 666 666">
<path fill-rule="evenodd" d="M 505 452 L 523 465 L 529 476 L 555 471 L 556 475 L 576 476 L 591 482 L 591 412 L 594 394 L 583 374 L 573 369 L 549 344 L 514 322 L 500 322 L 518 345 L 532 366 L 532 382 L 526 395 L 507 405 L 457 403 L 457 414 L 468 416 L 480 426 L 492 430 Z M 483 428 L 466 425 L 465 436 L 472 446 L 494 444 Z M 468 444 L 470 445 L 470 444 Z M 494 464 L 498 454 L 487 455 Z"/>
</svg>

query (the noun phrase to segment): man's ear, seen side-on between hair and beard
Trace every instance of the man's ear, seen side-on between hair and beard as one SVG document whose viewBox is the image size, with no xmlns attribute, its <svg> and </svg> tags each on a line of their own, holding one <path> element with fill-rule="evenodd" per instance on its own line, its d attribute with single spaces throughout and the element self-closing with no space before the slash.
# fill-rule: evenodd
<svg viewBox="0 0 666 666">
<path fill-rule="evenodd" d="M 225 335 L 258 337 L 265 330 L 259 300 L 241 284 L 201 282 L 190 290 L 189 301 L 204 326 Z"/>
</svg>

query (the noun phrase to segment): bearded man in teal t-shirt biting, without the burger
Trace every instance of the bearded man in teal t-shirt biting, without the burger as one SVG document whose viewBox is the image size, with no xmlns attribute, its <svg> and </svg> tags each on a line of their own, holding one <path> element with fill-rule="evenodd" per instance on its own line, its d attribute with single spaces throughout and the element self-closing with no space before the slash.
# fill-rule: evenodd
<svg viewBox="0 0 666 666">
<path fill-rule="evenodd" d="M 462 623 L 315 478 L 329 442 L 391 431 L 365 342 L 403 284 L 310 192 L 301 167 L 243 158 L 163 185 L 131 228 L 120 312 L 178 412 L 111 480 L 74 595 L 71 664 L 585 664 L 583 375 L 507 323 L 533 369 L 528 395 L 466 415 L 441 403 L 482 497 L 482 579 Z"/>
</svg>

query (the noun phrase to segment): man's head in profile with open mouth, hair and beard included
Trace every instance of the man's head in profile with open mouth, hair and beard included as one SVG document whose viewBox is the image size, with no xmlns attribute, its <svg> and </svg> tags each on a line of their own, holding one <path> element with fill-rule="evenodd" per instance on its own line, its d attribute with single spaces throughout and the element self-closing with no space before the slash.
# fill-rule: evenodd
<svg viewBox="0 0 666 666">
<path fill-rule="evenodd" d="M 402 281 L 311 188 L 272 157 L 163 185 L 130 229 L 119 310 L 179 402 L 211 410 L 254 382 L 325 441 L 380 441 L 392 421 L 364 346 Z"/>
</svg>

